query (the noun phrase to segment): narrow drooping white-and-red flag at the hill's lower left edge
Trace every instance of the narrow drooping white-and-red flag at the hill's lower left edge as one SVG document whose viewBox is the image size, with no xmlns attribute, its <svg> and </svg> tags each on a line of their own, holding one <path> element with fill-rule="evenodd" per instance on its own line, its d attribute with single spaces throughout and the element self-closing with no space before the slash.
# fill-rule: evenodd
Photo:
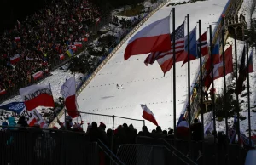
<svg viewBox="0 0 256 165">
<path fill-rule="evenodd" d="M 76 82 L 75 77 L 69 78 L 61 86 L 61 94 L 65 99 L 65 105 L 67 109 L 67 114 L 72 117 L 78 117 L 79 111 L 76 106 Z"/>
</svg>

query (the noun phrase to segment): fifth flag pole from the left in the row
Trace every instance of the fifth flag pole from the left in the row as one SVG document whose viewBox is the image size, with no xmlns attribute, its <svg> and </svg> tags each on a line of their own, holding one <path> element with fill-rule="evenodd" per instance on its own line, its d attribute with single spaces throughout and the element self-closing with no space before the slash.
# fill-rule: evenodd
<svg viewBox="0 0 256 165">
<path fill-rule="evenodd" d="M 227 89 L 226 89 L 226 65 L 225 65 L 225 45 L 224 45 L 224 17 L 222 18 L 222 31 L 221 31 L 221 39 L 222 39 L 222 58 L 223 58 L 223 81 L 224 81 L 224 110 L 225 110 L 225 126 L 226 126 L 226 134 L 228 134 L 228 111 L 225 108 L 225 103 L 227 102 Z"/>
</svg>

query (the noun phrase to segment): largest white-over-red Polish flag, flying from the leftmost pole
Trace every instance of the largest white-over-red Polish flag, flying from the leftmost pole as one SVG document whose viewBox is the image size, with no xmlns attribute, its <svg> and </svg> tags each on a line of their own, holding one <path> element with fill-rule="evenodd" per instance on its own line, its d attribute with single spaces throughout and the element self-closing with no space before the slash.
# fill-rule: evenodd
<svg viewBox="0 0 256 165">
<path fill-rule="evenodd" d="M 147 46 L 145 46 L 147 43 Z M 125 48 L 125 60 L 132 55 L 166 52 L 171 49 L 170 17 L 157 20 L 138 31 Z"/>
</svg>

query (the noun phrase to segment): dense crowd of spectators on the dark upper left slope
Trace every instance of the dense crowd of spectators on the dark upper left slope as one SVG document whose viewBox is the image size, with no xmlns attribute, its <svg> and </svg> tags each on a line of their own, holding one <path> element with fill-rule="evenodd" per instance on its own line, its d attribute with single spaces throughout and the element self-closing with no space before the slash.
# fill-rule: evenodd
<svg viewBox="0 0 256 165">
<path fill-rule="evenodd" d="M 32 83 L 38 71 L 48 74 L 60 63 L 60 55 L 73 42 L 87 38 L 88 27 L 99 21 L 99 9 L 88 0 L 54 0 L 17 21 L 14 29 L 0 37 L 1 94 Z"/>
</svg>

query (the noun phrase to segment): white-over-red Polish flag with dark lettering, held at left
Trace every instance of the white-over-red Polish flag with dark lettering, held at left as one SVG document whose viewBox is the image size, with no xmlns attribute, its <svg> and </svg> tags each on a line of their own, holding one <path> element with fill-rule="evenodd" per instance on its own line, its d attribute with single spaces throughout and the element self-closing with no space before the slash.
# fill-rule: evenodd
<svg viewBox="0 0 256 165">
<path fill-rule="evenodd" d="M 49 84 L 20 88 L 20 96 L 25 102 L 27 111 L 32 111 L 38 106 L 55 107 Z"/>
</svg>

